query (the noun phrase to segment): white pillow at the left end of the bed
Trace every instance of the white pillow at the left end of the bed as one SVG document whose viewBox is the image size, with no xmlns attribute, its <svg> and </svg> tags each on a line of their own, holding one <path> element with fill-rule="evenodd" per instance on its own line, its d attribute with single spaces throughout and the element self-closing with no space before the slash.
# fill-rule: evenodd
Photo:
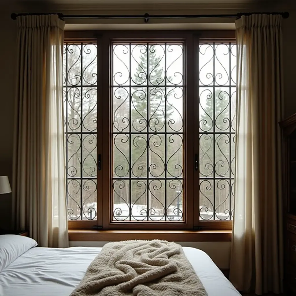
<svg viewBox="0 0 296 296">
<path fill-rule="evenodd" d="M 14 234 L 0 235 L 0 272 L 23 253 L 36 246 L 37 242 L 30 237 Z"/>
</svg>

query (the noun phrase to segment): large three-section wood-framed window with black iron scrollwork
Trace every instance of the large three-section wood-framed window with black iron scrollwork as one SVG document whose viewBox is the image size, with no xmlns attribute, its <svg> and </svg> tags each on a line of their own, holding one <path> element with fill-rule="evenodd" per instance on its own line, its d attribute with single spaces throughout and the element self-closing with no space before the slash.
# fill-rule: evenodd
<svg viewBox="0 0 296 296">
<path fill-rule="evenodd" d="M 230 229 L 234 38 L 87 34 L 64 46 L 69 227 Z"/>
</svg>

